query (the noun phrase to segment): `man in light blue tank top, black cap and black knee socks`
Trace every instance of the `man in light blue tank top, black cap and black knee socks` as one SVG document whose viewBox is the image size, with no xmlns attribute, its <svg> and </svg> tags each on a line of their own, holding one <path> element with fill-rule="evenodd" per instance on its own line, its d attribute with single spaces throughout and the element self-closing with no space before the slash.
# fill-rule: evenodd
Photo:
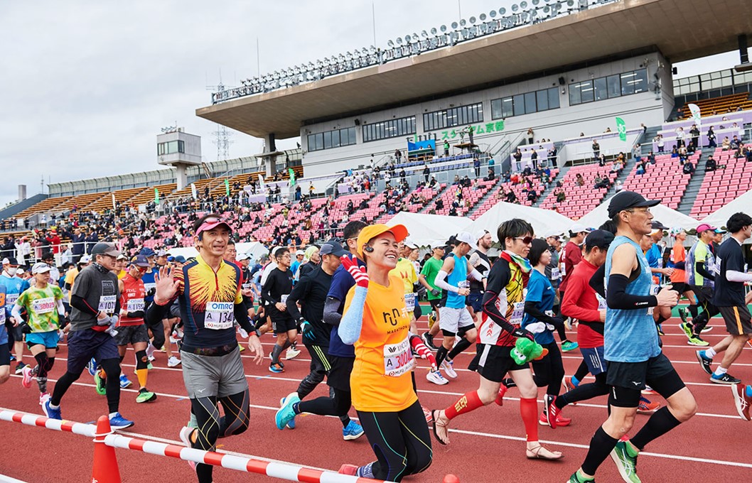
<svg viewBox="0 0 752 483">
<path fill-rule="evenodd" d="M 650 266 L 639 240 L 652 230 L 648 201 L 635 192 L 622 191 L 611 198 L 608 216 L 617 226 L 617 237 L 605 260 L 606 320 L 604 358 L 608 361 L 606 384 L 611 386 L 611 413 L 590 440 L 584 463 L 569 481 L 594 481 L 596 469 L 611 454 L 624 481 L 638 482 L 637 457 L 653 439 L 691 418 L 696 410 L 692 393 L 663 355 L 653 321 L 653 307 L 675 306 L 678 294 L 653 285 Z M 631 281 L 630 281 L 631 280 Z M 666 399 L 668 406 L 654 412 L 631 439 L 622 439 L 632 429 L 640 391 L 648 384 Z"/>
</svg>

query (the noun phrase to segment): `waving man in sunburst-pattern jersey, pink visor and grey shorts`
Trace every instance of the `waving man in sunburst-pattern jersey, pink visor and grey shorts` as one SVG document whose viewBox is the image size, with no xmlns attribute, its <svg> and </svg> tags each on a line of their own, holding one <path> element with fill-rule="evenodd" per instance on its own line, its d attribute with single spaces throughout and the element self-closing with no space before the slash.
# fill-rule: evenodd
<svg viewBox="0 0 752 483">
<path fill-rule="evenodd" d="M 190 448 L 212 451 L 217 438 L 243 433 L 250 421 L 248 382 L 233 318 L 250 334 L 248 349 L 256 364 L 262 363 L 264 349 L 248 320 L 240 269 L 222 259 L 230 226 L 220 216 L 208 213 L 193 223 L 193 231 L 199 255 L 180 270 L 161 270 L 154 303 L 146 315 L 147 322 L 161 321 L 172 300 L 180 303 L 185 324 L 180 346 L 183 382 L 197 426 L 183 427 L 180 440 Z M 211 483 L 212 468 L 196 464 L 199 483 Z"/>
</svg>

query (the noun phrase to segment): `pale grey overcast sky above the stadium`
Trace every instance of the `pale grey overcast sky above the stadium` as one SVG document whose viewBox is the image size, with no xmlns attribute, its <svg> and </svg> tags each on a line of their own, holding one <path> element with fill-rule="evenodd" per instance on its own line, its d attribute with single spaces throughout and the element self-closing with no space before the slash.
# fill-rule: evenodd
<svg viewBox="0 0 752 483">
<path fill-rule="evenodd" d="M 398 36 L 512 2 L 378 0 L 378 47 Z M 0 2 L 0 207 L 59 183 L 160 168 L 156 134 L 174 125 L 202 137 L 205 161 L 217 158 L 217 127 L 196 117 L 220 80 L 240 79 L 368 47 L 371 0 L 350 2 Z M 259 38 L 260 58 L 256 58 Z M 730 53 L 702 62 L 715 71 L 738 63 Z M 697 63 L 696 63 L 697 64 Z M 697 74 L 680 65 L 680 77 Z M 235 132 L 229 158 L 262 141 Z M 278 147 L 295 145 L 281 141 Z M 46 189 L 46 188 L 45 188 Z"/>
</svg>

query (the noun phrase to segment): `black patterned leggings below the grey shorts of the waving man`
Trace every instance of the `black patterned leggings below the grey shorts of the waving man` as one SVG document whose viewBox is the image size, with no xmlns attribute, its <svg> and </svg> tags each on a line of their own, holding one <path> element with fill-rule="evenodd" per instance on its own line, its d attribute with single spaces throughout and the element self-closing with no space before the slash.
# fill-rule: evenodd
<svg viewBox="0 0 752 483">
<path fill-rule="evenodd" d="M 217 402 L 222 404 L 225 415 L 220 417 L 220 409 Z M 243 433 L 248 429 L 250 417 L 248 415 L 250 398 L 248 390 L 231 396 L 220 397 L 199 397 L 191 399 L 191 412 L 196 415 L 196 442 L 191 447 L 203 449 L 205 451 L 214 451 L 214 443 L 217 438 L 234 436 Z M 199 477 L 199 483 L 211 483 L 211 464 L 197 463 L 196 475 Z"/>
</svg>

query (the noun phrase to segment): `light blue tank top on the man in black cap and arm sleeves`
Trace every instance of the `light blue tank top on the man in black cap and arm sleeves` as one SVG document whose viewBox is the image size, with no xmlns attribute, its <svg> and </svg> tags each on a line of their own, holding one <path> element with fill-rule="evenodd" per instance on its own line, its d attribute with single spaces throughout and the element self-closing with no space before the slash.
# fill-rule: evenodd
<svg viewBox="0 0 752 483">
<path fill-rule="evenodd" d="M 608 247 L 605 264 L 605 288 L 608 292 L 608 274 L 611 273 L 611 258 L 617 246 L 630 243 L 635 247 L 640 274 L 637 279 L 626 285 L 626 293 L 631 295 L 648 295 L 653 284 L 650 265 L 642 249 L 633 240 L 618 236 Z M 640 309 L 606 309 L 604 324 L 604 356 L 606 361 L 644 362 L 660 354 L 658 331 L 653 321 L 653 307 Z"/>
</svg>

